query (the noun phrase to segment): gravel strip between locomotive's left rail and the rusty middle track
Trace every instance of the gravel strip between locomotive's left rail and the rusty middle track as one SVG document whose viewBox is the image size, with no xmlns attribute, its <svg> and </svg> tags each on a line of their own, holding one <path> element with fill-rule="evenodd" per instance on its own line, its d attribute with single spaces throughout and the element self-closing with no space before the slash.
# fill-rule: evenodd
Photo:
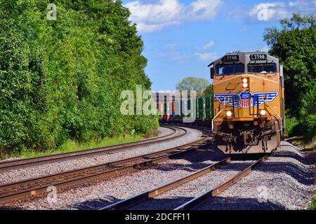
<svg viewBox="0 0 316 224">
<path fill-rule="evenodd" d="M 38 198 L 15 206 L 22 209 L 99 209 L 181 176 L 192 174 L 221 159 L 223 154 L 218 151 L 201 150 L 187 154 L 183 158 L 168 160 L 152 169 L 140 169 L 115 179 L 58 193 L 58 200 L 53 204 L 48 203 L 45 198 Z"/>
</svg>

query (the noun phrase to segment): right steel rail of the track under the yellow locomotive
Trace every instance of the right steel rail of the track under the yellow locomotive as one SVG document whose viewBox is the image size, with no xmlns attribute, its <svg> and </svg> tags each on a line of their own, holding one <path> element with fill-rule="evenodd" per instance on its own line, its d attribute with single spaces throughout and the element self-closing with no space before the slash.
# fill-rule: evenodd
<svg viewBox="0 0 316 224">
<path fill-rule="evenodd" d="M 188 210 L 196 207 L 198 204 L 201 204 L 205 200 L 214 197 L 220 193 L 222 193 L 224 190 L 230 188 L 230 186 L 233 186 L 235 183 L 237 183 L 240 179 L 242 179 L 244 176 L 247 176 L 255 167 L 260 165 L 262 162 L 264 162 L 268 158 L 267 155 L 263 156 L 260 160 L 257 160 L 249 167 L 246 167 L 246 169 L 243 169 L 241 172 L 236 174 L 235 176 L 232 176 L 232 178 L 228 179 L 227 181 L 220 183 L 220 185 L 216 186 L 212 190 L 209 190 L 208 192 L 204 193 L 203 195 L 200 195 L 199 197 L 195 197 L 194 199 L 190 200 L 189 202 L 186 202 L 185 204 L 180 205 L 174 210 Z"/>
</svg>

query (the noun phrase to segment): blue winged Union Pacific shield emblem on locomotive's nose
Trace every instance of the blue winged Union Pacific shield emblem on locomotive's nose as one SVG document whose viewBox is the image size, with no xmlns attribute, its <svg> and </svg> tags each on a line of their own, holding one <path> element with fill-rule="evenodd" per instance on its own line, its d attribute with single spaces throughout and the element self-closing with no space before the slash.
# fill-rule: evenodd
<svg viewBox="0 0 316 224">
<path fill-rule="evenodd" d="M 261 106 L 263 102 L 272 102 L 275 100 L 275 97 L 279 92 L 249 92 L 242 91 L 239 94 L 235 93 L 220 93 L 214 94 L 214 98 L 218 100 L 218 102 L 227 104 L 235 104 L 236 107 L 249 108 L 251 106 Z"/>
</svg>

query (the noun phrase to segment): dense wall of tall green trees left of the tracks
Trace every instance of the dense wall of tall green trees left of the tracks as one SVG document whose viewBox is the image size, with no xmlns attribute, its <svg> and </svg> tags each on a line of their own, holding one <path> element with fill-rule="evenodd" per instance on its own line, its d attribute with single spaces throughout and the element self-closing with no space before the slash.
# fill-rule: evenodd
<svg viewBox="0 0 316 224">
<path fill-rule="evenodd" d="M 143 41 L 121 1 L 0 1 L 0 150 L 59 148 L 157 127 L 124 117 L 122 90 L 150 89 Z M 146 125 L 146 127 L 144 127 Z"/>
</svg>

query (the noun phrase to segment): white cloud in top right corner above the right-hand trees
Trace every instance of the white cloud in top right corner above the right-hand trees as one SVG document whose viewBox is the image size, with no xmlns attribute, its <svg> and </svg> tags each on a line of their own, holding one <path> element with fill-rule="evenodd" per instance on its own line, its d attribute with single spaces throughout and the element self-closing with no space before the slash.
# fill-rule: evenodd
<svg viewBox="0 0 316 224">
<path fill-rule="evenodd" d="M 249 17 L 254 21 L 277 21 L 291 18 L 292 13 L 315 14 L 316 1 L 298 0 L 284 3 L 280 1 L 259 3 L 251 8 Z"/>
</svg>

